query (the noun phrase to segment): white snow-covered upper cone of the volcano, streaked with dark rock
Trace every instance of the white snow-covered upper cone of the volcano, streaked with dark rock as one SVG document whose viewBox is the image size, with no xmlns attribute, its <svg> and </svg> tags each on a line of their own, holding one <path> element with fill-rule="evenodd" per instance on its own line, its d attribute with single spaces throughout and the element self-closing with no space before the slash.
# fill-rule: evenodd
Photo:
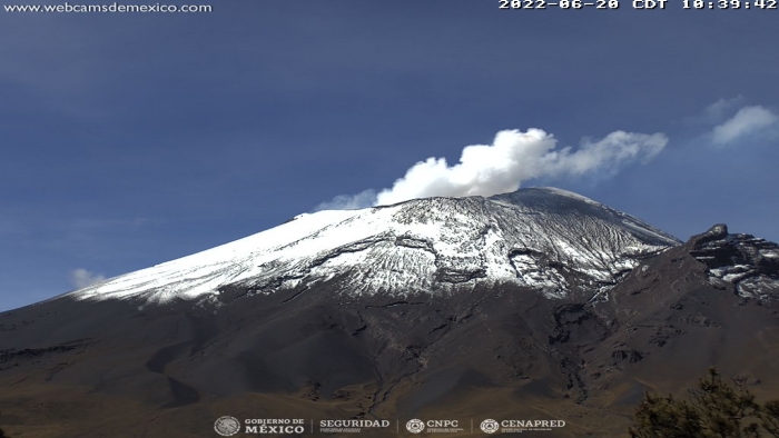
<svg viewBox="0 0 779 438">
<path fill-rule="evenodd" d="M 119 276 L 77 299 L 211 298 L 337 281 L 347 295 L 445 293 L 514 283 L 550 297 L 595 293 L 680 242 L 632 216 L 553 188 L 426 198 L 299 215 L 269 230 Z"/>
</svg>

